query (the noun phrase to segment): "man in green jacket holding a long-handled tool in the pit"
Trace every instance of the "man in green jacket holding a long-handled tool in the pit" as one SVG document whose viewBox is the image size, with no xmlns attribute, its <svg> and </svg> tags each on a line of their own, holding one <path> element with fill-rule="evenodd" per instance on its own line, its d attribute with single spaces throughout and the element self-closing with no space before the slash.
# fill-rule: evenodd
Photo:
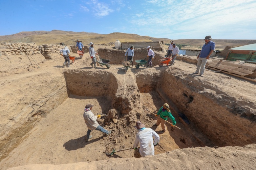
<svg viewBox="0 0 256 170">
<path fill-rule="evenodd" d="M 176 124 L 176 121 L 175 121 L 174 117 L 172 116 L 171 110 L 167 103 L 164 103 L 163 106 L 159 109 L 158 113 L 156 114 L 156 117 L 157 116 L 159 116 L 159 117 L 157 118 L 157 123 L 154 126 L 159 126 L 161 123 L 161 127 L 163 130 L 161 130 L 160 133 L 164 133 L 166 131 L 165 120 L 167 120 L 168 117 L 172 120 L 171 126 L 174 127 L 174 125 Z"/>
</svg>

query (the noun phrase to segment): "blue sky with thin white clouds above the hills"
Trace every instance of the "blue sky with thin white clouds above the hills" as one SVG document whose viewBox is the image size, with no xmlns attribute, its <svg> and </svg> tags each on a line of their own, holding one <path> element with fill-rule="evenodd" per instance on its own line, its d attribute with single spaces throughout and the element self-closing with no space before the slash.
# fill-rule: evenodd
<svg viewBox="0 0 256 170">
<path fill-rule="evenodd" d="M 0 35 L 21 31 L 256 39 L 256 0 L 0 0 Z"/>
</svg>

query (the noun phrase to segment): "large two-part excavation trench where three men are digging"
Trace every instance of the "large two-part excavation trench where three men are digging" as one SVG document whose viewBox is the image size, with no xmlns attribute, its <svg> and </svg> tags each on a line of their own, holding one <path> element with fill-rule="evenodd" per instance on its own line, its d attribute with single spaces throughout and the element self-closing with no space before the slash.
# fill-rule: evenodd
<svg viewBox="0 0 256 170">
<path fill-rule="evenodd" d="M 142 59 L 144 52 L 138 49 L 135 59 Z M 160 134 L 155 154 L 178 148 L 244 146 L 256 142 L 253 121 L 227 107 L 229 96 L 222 100 L 213 97 L 209 91 L 214 89 L 175 67 L 130 68 L 125 73 L 123 66 L 115 65 L 123 61 L 124 50 L 99 49 L 98 53 L 113 61 L 111 69 L 65 70 L 68 98 L 47 113 L 12 154 L 1 161 L 4 167 L 20 166 L 20 162 L 66 164 L 109 159 L 105 152 L 133 146 L 137 120 L 159 133 L 161 127 L 153 126 L 155 116 L 144 109 L 157 113 L 163 103 L 169 104 L 181 129 L 166 124 L 167 131 Z M 156 54 L 157 59 L 160 57 Z M 153 64 L 157 65 L 157 60 Z M 226 95 L 215 90 L 218 95 Z M 86 143 L 87 127 L 82 115 L 89 103 L 95 105 L 94 114 L 108 115 L 98 122 L 113 133 L 106 137 L 94 130 L 92 140 Z M 186 115 L 190 124 L 179 113 Z M 30 151 L 23 147 L 27 145 Z M 33 155 L 40 155 L 40 160 Z M 133 151 L 118 152 L 113 157 L 133 157 Z"/>
</svg>

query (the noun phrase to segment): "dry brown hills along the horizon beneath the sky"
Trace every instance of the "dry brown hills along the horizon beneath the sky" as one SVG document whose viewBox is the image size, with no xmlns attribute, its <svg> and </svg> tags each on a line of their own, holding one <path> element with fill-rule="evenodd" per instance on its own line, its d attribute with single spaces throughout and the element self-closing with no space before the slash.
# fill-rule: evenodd
<svg viewBox="0 0 256 170">
<path fill-rule="evenodd" d="M 0 42 L 35 42 L 38 45 L 41 44 L 59 44 L 60 42 L 66 45 L 74 45 L 76 40 L 79 39 L 84 45 L 94 42 L 95 44 L 115 42 L 146 42 L 146 41 L 163 41 L 170 43 L 170 39 L 167 38 L 154 38 L 149 36 L 140 36 L 137 34 L 126 34 L 120 32 L 113 32 L 110 34 L 98 34 L 90 32 L 73 32 L 73 31 L 31 31 L 31 32 L 20 32 L 17 34 L 0 36 Z M 224 49 L 227 45 L 231 46 L 242 46 L 247 44 L 256 43 L 256 40 L 215 40 L 216 49 Z M 202 39 L 183 39 L 174 40 L 177 44 L 183 44 L 182 49 L 200 49 L 203 46 Z M 164 45 L 167 49 L 167 45 Z"/>
</svg>

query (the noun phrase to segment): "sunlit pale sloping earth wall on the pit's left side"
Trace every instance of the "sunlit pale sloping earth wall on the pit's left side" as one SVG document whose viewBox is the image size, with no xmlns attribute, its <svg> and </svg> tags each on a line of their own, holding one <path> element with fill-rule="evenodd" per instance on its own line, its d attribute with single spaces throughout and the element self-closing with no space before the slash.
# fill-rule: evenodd
<svg viewBox="0 0 256 170">
<path fill-rule="evenodd" d="M 13 77 L 4 82 L 1 94 L 0 161 L 17 147 L 34 125 L 62 104 L 67 95 L 63 74 L 51 72 Z M 39 78 L 40 83 L 35 79 Z M 26 93 L 29 92 L 29 93 Z M 15 96 L 15 97 L 14 97 Z"/>
</svg>

